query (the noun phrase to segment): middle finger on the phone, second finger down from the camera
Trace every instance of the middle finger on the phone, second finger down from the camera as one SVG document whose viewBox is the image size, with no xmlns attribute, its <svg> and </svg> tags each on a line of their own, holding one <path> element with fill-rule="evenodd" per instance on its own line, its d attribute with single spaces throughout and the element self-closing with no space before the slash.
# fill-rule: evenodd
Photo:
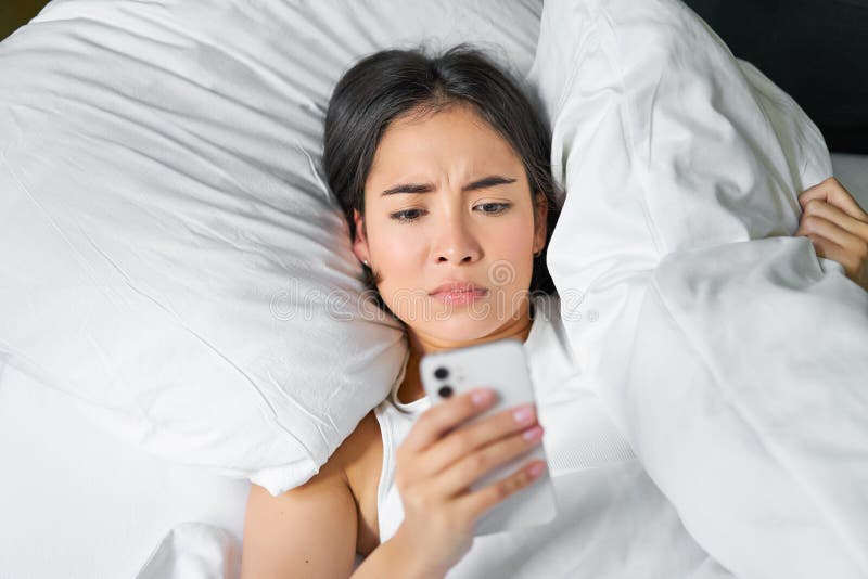
<svg viewBox="0 0 868 579">
<path fill-rule="evenodd" d="M 536 424 L 534 404 L 521 404 L 484 421 L 456 428 L 425 450 L 427 474 L 437 474 L 465 455 Z"/>
</svg>

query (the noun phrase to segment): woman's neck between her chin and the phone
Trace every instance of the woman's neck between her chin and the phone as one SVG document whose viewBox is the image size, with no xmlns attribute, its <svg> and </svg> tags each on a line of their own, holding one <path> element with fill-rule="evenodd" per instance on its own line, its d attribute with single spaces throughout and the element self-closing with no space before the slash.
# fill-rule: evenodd
<svg viewBox="0 0 868 579">
<path fill-rule="evenodd" d="M 422 356 L 436 351 L 476 346 L 478 344 L 485 344 L 506 338 L 515 338 L 523 344 L 527 340 L 527 336 L 531 334 L 532 326 L 533 319 L 531 317 L 531 304 L 527 299 L 522 300 L 518 319 L 511 316 L 503 325 L 490 334 L 478 338 L 468 340 L 442 339 L 436 336 L 417 332 L 412 327 L 408 326 L 407 337 L 410 347 L 410 358 L 407 361 L 407 370 L 405 372 L 404 382 L 398 389 L 398 400 L 408 403 L 425 396 L 424 389 L 422 388 L 422 383 L 419 378 L 419 360 L 422 358 Z"/>
</svg>

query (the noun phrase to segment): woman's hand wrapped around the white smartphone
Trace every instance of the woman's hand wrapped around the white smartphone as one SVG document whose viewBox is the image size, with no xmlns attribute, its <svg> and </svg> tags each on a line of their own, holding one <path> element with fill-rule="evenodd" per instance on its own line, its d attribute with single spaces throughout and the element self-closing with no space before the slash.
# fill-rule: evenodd
<svg viewBox="0 0 868 579">
<path fill-rule="evenodd" d="M 515 409 L 490 414 L 496 398 L 490 388 L 475 388 L 433 404 L 395 453 L 404 520 L 391 541 L 412 553 L 425 572 L 443 575 L 455 566 L 470 550 L 484 513 L 546 474 L 533 474 L 545 462 L 532 460 L 505 478 L 471 489 L 486 472 L 521 459 L 540 442 L 541 433 L 529 440 L 523 436 L 539 427 L 536 413 L 521 421 L 514 417 Z M 484 420 L 468 424 L 484 414 Z"/>
</svg>

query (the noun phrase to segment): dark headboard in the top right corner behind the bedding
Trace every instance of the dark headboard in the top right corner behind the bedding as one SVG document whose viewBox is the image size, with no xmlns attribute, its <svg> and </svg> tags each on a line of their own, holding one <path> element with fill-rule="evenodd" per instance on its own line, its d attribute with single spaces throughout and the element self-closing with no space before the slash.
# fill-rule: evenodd
<svg viewBox="0 0 868 579">
<path fill-rule="evenodd" d="M 786 90 L 829 150 L 868 154 L 868 0 L 685 0 Z"/>
</svg>

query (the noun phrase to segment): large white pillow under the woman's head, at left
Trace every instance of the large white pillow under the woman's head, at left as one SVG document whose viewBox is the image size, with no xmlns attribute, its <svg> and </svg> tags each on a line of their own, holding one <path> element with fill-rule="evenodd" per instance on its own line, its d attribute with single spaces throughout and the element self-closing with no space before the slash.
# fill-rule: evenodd
<svg viewBox="0 0 868 579">
<path fill-rule="evenodd" d="M 420 43 L 519 76 L 540 11 L 50 3 L 0 44 L 0 352 L 146 451 L 303 484 L 406 357 L 318 172 L 332 87 Z"/>
</svg>

